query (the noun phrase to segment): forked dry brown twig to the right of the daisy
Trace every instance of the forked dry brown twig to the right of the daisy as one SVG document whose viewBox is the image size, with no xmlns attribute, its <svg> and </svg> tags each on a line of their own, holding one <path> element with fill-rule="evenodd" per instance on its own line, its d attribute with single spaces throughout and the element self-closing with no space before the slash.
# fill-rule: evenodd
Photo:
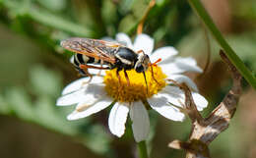
<svg viewBox="0 0 256 158">
<path fill-rule="evenodd" d="M 233 79 L 232 88 L 225 95 L 221 104 L 211 113 L 209 117 L 204 119 L 196 109 L 190 89 L 184 83 L 179 84 L 179 87 L 185 92 L 186 101 L 184 111 L 191 119 L 192 128 L 189 135 L 189 140 L 182 142 L 173 140 L 168 144 L 174 149 L 186 150 L 186 158 L 210 158 L 208 145 L 221 133 L 228 128 L 230 119 L 232 118 L 236 105 L 241 93 L 242 77 L 224 55 L 221 50 L 220 55 L 227 65 L 228 70 Z"/>
</svg>

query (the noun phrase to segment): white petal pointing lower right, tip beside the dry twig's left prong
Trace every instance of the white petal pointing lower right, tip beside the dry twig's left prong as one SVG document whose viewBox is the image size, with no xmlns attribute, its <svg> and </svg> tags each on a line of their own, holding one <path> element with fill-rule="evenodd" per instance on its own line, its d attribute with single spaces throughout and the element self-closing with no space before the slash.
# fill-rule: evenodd
<svg viewBox="0 0 256 158">
<path fill-rule="evenodd" d="M 185 115 L 181 113 L 178 108 L 169 105 L 168 100 L 165 97 L 156 95 L 148 100 L 151 107 L 163 117 L 173 121 L 184 120 Z"/>
</svg>

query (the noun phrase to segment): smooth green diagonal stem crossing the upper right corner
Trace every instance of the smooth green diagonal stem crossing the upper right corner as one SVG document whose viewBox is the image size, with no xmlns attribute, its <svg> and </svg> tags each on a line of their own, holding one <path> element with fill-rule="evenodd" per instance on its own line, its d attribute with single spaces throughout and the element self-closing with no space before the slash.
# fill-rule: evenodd
<svg viewBox="0 0 256 158">
<path fill-rule="evenodd" d="M 246 79 L 251 86 L 256 89 L 256 79 L 252 75 L 252 73 L 246 68 L 243 64 L 241 59 L 235 54 L 232 48 L 228 45 L 225 41 L 223 34 L 214 24 L 212 18 L 207 13 L 206 9 L 204 8 L 203 4 L 200 0 L 188 0 L 190 6 L 196 11 L 205 25 L 210 29 L 213 36 L 216 38 L 218 43 L 223 47 L 224 53 L 227 58 L 231 61 L 231 63 L 235 66 L 235 68 L 239 71 L 244 79 Z"/>
</svg>

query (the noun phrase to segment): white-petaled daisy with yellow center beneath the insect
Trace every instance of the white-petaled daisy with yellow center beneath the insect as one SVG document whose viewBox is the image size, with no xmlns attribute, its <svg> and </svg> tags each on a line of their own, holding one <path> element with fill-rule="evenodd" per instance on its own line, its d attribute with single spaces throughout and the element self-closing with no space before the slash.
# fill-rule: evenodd
<svg viewBox="0 0 256 158">
<path fill-rule="evenodd" d="M 68 115 L 68 120 L 85 118 L 112 106 L 108 118 L 110 132 L 118 137 L 122 136 L 129 114 L 135 140 L 146 140 L 150 132 L 147 109 L 154 109 L 172 121 L 183 121 L 185 118 L 178 108 L 184 105 L 184 92 L 171 85 L 167 79 L 187 83 L 193 90 L 192 96 L 199 111 L 207 106 L 208 102 L 198 93 L 196 84 L 182 75 L 184 72 L 202 73 L 193 58 L 176 57 L 178 52 L 171 46 L 161 47 L 153 52 L 154 39 L 147 34 L 137 35 L 132 43 L 125 33 L 118 33 L 116 41 L 134 51 L 143 50 L 153 63 L 161 59 L 158 65 L 150 67 L 146 72 L 148 88 L 143 74 L 136 73 L 135 70 L 127 71 L 129 84 L 123 71 L 119 74 L 120 81 L 118 80 L 116 70 L 105 71 L 103 77 L 95 76 L 90 83 L 85 83 L 89 78 L 75 80 L 63 89 L 62 96 L 56 103 L 58 106 L 76 104 L 75 110 Z M 97 70 L 90 71 L 92 74 L 97 73 Z"/>
</svg>

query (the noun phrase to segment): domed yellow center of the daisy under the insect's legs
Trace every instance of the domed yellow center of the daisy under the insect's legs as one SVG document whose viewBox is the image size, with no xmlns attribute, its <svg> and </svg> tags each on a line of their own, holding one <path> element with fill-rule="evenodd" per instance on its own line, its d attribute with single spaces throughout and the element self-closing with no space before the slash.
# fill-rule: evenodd
<svg viewBox="0 0 256 158">
<path fill-rule="evenodd" d="M 148 71 L 145 72 L 148 88 L 143 73 L 137 73 L 135 70 L 126 72 L 130 84 L 125 78 L 124 71 L 119 72 L 120 80 L 116 76 L 116 69 L 106 71 L 104 77 L 107 94 L 119 102 L 130 103 L 138 100 L 146 100 L 154 94 L 157 94 L 160 89 L 166 85 L 164 80 L 166 76 L 161 72 L 160 67 L 157 65 L 150 67 Z"/>
</svg>

